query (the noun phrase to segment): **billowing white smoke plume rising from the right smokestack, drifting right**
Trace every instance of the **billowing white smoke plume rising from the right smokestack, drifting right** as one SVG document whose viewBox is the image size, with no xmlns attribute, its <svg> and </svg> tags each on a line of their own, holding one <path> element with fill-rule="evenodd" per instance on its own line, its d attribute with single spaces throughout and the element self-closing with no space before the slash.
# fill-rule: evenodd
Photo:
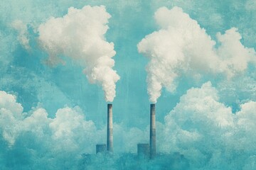
<svg viewBox="0 0 256 170">
<path fill-rule="evenodd" d="M 217 33 L 217 47 L 206 30 L 181 8 L 159 8 L 154 18 L 160 30 L 146 35 L 137 45 L 139 52 L 149 57 L 146 81 L 153 103 L 161 96 L 163 87 L 175 91 L 176 80 L 182 74 L 196 79 L 204 74 L 231 78 L 245 71 L 255 57 L 255 50 L 240 42 L 237 28 L 226 30 L 223 35 Z"/>
</svg>

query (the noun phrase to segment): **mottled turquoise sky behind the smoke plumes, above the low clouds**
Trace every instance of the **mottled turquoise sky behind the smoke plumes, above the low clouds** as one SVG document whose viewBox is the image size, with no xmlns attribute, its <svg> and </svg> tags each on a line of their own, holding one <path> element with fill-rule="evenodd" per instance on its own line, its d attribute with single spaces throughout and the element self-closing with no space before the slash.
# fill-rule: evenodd
<svg viewBox="0 0 256 170">
<path fill-rule="evenodd" d="M 42 60 L 47 54 L 36 43 L 38 33 L 33 33 L 33 25 L 38 26 L 51 16 L 65 15 L 70 6 L 82 8 L 85 5 L 104 5 L 112 16 L 108 23 L 110 29 L 107 31 L 106 38 L 107 41 L 114 42 L 114 50 L 117 52 L 114 56 L 114 68 L 121 77 L 117 82 L 117 97 L 114 100 L 116 120 L 132 126 L 134 125 L 132 123 L 145 126 L 147 121 L 140 118 L 144 118 L 149 110 L 145 83 L 145 66 L 148 60 L 139 54 L 137 44 L 145 35 L 158 29 L 154 21 L 156 9 L 161 6 L 167 8 L 180 6 L 191 18 L 198 21 L 201 28 L 206 29 L 206 33 L 213 40 L 216 39 L 216 33 L 224 33 L 225 30 L 236 27 L 242 35 L 243 45 L 255 47 L 253 3 L 253 1 L 246 3 L 242 1 L 186 1 L 186 3 L 184 1 L 79 1 L 75 3 L 71 1 L 6 1 L 1 9 L 1 16 L 3 16 L 1 44 L 4 45 L 1 50 L 6 55 L 1 58 L 4 63 L 7 63 L 4 64 L 6 69 L 1 76 L 3 77 L 1 88 L 4 91 L 17 93 L 18 101 L 23 104 L 25 111 L 37 106 L 38 102 L 51 115 L 65 104 L 78 105 L 87 112 L 89 118 L 102 122 L 105 101 L 100 86 L 88 84 L 86 77 L 82 74 L 82 68 L 71 61 L 68 61 L 65 67 L 58 65 L 49 68 L 43 65 Z M 21 20 L 28 26 L 28 33 L 30 33 L 28 36 L 31 37 L 32 46 L 30 52 L 19 45 L 16 38 L 17 32 L 10 28 L 11 22 L 15 20 Z M 215 79 L 218 78 L 210 77 L 209 80 L 215 81 Z M 159 120 L 163 120 L 166 112 L 176 105 L 179 97 L 187 89 L 200 86 L 200 83 L 179 84 L 176 93 L 173 94 L 164 90 L 158 102 Z M 235 101 L 240 98 L 247 99 L 246 97 L 239 96 L 232 98 L 232 101 L 229 98 L 222 99 L 228 106 L 233 106 L 233 109 L 237 110 Z M 252 97 L 255 98 L 255 96 Z M 134 116 L 139 117 L 139 122 L 134 122 Z"/>
</svg>

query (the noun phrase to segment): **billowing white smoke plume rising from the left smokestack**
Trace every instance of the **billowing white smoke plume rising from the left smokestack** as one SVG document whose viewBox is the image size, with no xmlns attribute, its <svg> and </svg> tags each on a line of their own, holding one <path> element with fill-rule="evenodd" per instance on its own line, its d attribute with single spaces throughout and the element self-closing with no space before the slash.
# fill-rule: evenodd
<svg viewBox="0 0 256 170">
<path fill-rule="evenodd" d="M 102 86 L 106 101 L 113 101 L 119 75 L 112 69 L 114 43 L 105 40 L 109 18 L 105 6 L 70 7 L 62 18 L 41 24 L 38 39 L 48 52 L 48 64 L 65 64 L 61 55 L 76 60 L 85 67 L 83 72 L 90 83 Z"/>
</svg>

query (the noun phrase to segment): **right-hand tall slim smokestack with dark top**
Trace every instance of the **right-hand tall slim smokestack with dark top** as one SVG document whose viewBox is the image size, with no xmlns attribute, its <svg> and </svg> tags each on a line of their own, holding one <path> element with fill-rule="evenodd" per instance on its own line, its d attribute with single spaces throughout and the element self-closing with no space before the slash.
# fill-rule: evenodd
<svg viewBox="0 0 256 170">
<path fill-rule="evenodd" d="M 150 105 L 150 137 L 149 137 L 150 159 L 156 155 L 156 105 Z"/>
</svg>

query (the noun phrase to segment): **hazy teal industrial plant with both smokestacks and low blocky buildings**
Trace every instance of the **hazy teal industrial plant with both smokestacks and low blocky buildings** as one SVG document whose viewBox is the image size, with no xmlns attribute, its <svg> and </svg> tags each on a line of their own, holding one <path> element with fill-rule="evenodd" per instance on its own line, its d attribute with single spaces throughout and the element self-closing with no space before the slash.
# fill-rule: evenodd
<svg viewBox="0 0 256 170">
<path fill-rule="evenodd" d="M 114 153 L 113 110 L 107 104 L 107 144 L 97 144 L 96 154 L 83 154 L 82 169 L 188 169 L 188 160 L 178 152 L 156 152 L 156 105 L 150 105 L 149 143 L 137 144 L 137 154 Z"/>
</svg>

